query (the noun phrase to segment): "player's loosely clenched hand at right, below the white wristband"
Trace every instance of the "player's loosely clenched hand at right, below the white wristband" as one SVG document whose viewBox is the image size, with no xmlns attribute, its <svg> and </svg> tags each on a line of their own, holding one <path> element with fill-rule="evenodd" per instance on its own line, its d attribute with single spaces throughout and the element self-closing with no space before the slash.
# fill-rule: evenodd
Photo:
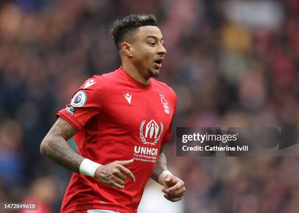
<svg viewBox="0 0 299 213">
<path fill-rule="evenodd" d="M 176 176 L 171 176 L 167 174 L 164 178 L 167 187 L 162 189 L 164 192 L 164 197 L 171 202 L 176 202 L 182 199 L 182 196 L 186 192 L 185 183 L 180 178 Z"/>
</svg>

